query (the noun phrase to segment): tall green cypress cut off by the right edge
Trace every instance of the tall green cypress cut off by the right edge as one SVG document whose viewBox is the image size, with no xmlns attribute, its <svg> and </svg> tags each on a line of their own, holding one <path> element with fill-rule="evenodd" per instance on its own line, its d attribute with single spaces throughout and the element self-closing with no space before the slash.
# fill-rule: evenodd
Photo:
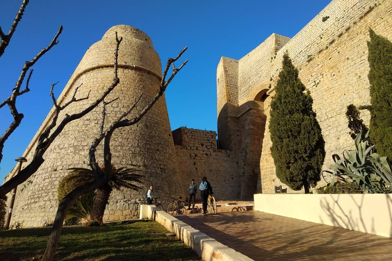
<svg viewBox="0 0 392 261">
<path fill-rule="evenodd" d="M 392 43 L 370 32 L 369 47 L 370 140 L 377 153 L 392 159 Z"/>
</svg>

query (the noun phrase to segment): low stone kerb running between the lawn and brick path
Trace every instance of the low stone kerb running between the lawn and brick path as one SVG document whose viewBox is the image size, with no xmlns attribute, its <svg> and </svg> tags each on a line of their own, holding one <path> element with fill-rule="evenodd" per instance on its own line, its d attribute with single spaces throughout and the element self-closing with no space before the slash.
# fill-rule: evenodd
<svg viewBox="0 0 392 261">
<path fill-rule="evenodd" d="M 252 261 L 228 246 L 219 243 L 207 234 L 194 229 L 190 225 L 178 220 L 174 216 L 161 211 L 154 205 L 140 205 L 140 219 L 157 221 L 168 231 L 176 233 L 177 238 L 192 248 L 205 261 Z"/>
</svg>

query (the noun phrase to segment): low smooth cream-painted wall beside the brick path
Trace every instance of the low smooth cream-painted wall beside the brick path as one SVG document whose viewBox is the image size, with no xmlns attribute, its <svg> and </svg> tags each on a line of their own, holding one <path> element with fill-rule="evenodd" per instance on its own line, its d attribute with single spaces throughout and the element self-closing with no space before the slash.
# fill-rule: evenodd
<svg viewBox="0 0 392 261">
<path fill-rule="evenodd" d="M 255 210 L 392 238 L 391 194 L 255 194 Z"/>
</svg>

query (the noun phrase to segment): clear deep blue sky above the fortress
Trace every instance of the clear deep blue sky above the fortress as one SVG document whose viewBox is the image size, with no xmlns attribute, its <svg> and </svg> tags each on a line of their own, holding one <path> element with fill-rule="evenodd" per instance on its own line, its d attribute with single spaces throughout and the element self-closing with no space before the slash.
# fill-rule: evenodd
<svg viewBox="0 0 392 261">
<path fill-rule="evenodd" d="M 216 131 L 216 66 L 220 57 L 240 59 L 269 35 L 296 35 L 331 0 L 280 1 L 131 1 L 31 0 L 0 58 L 0 100 L 12 92 L 24 61 L 53 39 L 60 24 L 60 43 L 33 67 L 29 93 L 19 96 L 24 114 L 3 150 L 0 182 L 15 166 L 53 106 L 52 83 L 59 95 L 90 45 L 113 25 L 127 24 L 150 36 L 162 64 L 188 46 L 188 64 L 166 91 L 172 129 L 181 126 Z M 0 26 L 8 33 L 22 0 L 0 1 Z M 180 64 L 178 64 L 180 65 Z M 0 110 L 0 135 L 12 122 Z"/>
</svg>

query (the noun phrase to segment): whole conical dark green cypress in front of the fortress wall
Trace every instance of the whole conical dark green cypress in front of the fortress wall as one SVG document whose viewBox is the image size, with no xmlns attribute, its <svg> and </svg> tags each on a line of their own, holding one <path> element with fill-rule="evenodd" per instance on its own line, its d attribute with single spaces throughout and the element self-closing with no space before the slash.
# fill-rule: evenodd
<svg viewBox="0 0 392 261">
<path fill-rule="evenodd" d="M 312 110 L 310 92 L 298 78 L 287 54 L 271 102 L 271 154 L 276 175 L 293 190 L 314 187 L 320 180 L 325 158 L 324 139 Z"/>
</svg>

